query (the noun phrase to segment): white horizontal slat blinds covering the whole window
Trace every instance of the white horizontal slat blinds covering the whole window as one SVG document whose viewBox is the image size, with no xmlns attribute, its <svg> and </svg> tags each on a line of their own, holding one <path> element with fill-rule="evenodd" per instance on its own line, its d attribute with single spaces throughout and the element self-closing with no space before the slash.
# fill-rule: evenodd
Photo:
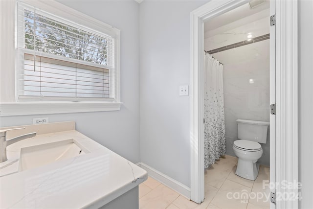
<svg viewBox="0 0 313 209">
<path fill-rule="evenodd" d="M 114 38 L 18 4 L 18 96 L 40 100 L 114 97 Z"/>
</svg>

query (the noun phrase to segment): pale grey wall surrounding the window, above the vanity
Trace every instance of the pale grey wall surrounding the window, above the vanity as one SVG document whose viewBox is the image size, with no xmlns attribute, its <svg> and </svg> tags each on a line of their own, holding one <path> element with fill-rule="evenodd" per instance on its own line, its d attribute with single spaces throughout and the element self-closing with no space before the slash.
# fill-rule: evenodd
<svg viewBox="0 0 313 209">
<path fill-rule="evenodd" d="M 137 163 L 140 161 L 139 5 L 130 0 L 60 2 L 121 30 L 121 101 L 124 104 L 116 112 L 41 116 L 48 116 L 49 122 L 75 120 L 78 131 Z M 0 125 L 5 127 L 32 124 L 32 118 L 41 116 L 2 116 Z"/>
</svg>

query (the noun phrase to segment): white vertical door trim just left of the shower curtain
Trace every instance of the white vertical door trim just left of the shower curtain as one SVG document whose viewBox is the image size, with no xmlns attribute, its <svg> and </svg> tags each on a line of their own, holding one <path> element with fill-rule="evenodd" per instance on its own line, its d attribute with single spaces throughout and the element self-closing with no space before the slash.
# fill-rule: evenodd
<svg viewBox="0 0 313 209">
<path fill-rule="evenodd" d="M 206 5 L 206 4 L 205 4 Z M 191 180 L 190 180 L 190 199 L 198 204 L 204 200 L 204 148 L 201 143 L 204 134 L 203 124 L 201 123 L 200 116 L 203 115 L 203 102 L 201 102 L 201 91 L 203 88 L 200 86 L 201 67 L 203 68 L 203 61 L 200 62 L 201 53 L 204 50 L 204 28 L 203 23 L 200 23 L 199 12 L 191 13 Z M 203 32 L 203 35 L 201 32 Z M 199 37 L 201 36 L 201 37 Z M 201 44 L 199 44 L 201 42 Z M 202 51 L 203 51 L 202 50 Z M 201 66 L 201 67 L 200 67 Z M 203 74 L 203 72 L 202 72 Z M 203 166 L 202 166 L 203 165 Z"/>
</svg>

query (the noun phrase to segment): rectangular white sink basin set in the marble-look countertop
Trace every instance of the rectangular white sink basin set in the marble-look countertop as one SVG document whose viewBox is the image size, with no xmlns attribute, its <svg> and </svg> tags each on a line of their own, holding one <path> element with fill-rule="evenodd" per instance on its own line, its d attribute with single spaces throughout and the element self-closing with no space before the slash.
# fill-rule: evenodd
<svg viewBox="0 0 313 209">
<path fill-rule="evenodd" d="M 88 151 L 74 139 L 21 148 L 19 171 L 84 155 Z"/>
</svg>

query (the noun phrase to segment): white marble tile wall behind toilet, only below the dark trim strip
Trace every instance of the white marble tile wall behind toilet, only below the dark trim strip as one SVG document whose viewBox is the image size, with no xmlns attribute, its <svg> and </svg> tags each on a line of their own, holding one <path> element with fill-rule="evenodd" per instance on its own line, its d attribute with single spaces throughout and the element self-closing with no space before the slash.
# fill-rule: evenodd
<svg viewBox="0 0 313 209">
<path fill-rule="evenodd" d="M 269 121 L 269 40 L 213 56 L 224 63 L 226 154 L 235 156 L 236 119 Z M 269 132 L 259 163 L 269 165 Z"/>
</svg>

